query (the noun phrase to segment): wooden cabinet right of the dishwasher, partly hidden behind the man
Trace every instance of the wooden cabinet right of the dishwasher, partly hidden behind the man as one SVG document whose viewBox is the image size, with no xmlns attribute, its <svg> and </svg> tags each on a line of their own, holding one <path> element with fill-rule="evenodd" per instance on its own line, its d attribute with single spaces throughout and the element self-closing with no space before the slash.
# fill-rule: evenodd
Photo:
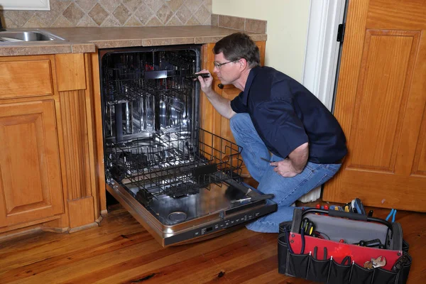
<svg viewBox="0 0 426 284">
<path fill-rule="evenodd" d="M 265 62 L 265 41 L 258 41 L 256 45 L 259 48 L 261 53 L 261 65 L 264 65 Z M 220 80 L 217 78 L 216 74 L 213 72 L 214 68 L 214 53 L 213 53 L 214 43 L 209 43 L 203 46 L 202 55 L 202 69 L 209 70 L 209 72 L 213 75 L 213 84 L 212 87 L 214 92 L 220 94 L 222 97 L 226 97 L 226 99 L 234 99 L 234 97 L 238 96 L 241 92 L 240 89 L 237 89 L 232 84 L 226 84 L 222 87 L 219 87 Z M 219 112 L 217 112 L 212 104 L 210 104 L 207 97 L 202 94 L 201 95 L 201 109 L 200 109 L 200 126 L 202 129 L 210 131 L 217 136 L 225 138 L 226 140 L 232 141 L 235 143 L 234 136 L 232 135 L 231 128 L 229 126 L 229 119 L 225 119 L 222 117 Z M 250 177 L 249 171 L 246 169 L 245 165 L 243 165 L 242 174 L 244 177 Z"/>
</svg>

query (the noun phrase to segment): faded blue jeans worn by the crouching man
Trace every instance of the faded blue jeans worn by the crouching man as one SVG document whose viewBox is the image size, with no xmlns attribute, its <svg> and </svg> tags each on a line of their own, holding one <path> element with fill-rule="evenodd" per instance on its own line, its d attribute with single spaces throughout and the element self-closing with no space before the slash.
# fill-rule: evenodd
<svg viewBox="0 0 426 284">
<path fill-rule="evenodd" d="M 332 178 L 340 168 L 340 164 L 315 164 L 307 162 L 302 173 L 293 178 L 283 178 L 275 173 L 273 166 L 265 160 L 274 162 L 283 158 L 272 155 L 258 136 L 249 114 L 235 114 L 230 120 L 231 131 L 236 143 L 241 146 L 241 156 L 252 178 L 259 182 L 258 190 L 275 195 L 273 201 L 278 204 L 278 211 L 247 224 L 247 229 L 263 233 L 278 233 L 280 222 L 293 219 L 291 207 L 296 200 L 310 190 L 322 185 Z"/>
</svg>

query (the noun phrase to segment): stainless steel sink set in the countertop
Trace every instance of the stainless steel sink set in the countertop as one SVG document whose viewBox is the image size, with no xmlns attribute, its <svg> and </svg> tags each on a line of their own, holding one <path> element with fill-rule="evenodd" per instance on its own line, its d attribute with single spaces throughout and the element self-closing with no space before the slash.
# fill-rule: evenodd
<svg viewBox="0 0 426 284">
<path fill-rule="evenodd" d="M 26 43 L 26 42 L 50 42 L 64 40 L 58 35 L 40 30 L 13 30 L 0 31 L 0 43 Z"/>
</svg>

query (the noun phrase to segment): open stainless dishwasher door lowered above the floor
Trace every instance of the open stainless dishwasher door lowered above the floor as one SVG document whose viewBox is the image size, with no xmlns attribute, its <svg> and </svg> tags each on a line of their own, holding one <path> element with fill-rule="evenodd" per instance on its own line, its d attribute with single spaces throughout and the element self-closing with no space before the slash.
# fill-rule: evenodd
<svg viewBox="0 0 426 284">
<path fill-rule="evenodd" d="M 163 247 L 211 239 L 277 210 L 271 200 L 231 204 L 231 200 L 261 195 L 255 190 L 244 193 L 248 188 L 234 180 L 211 190 L 202 188 L 199 194 L 182 197 L 179 202 L 168 200 L 170 206 L 161 200 L 153 207 L 143 205 L 131 190 L 114 180 L 107 184 L 107 190 Z"/>
</svg>

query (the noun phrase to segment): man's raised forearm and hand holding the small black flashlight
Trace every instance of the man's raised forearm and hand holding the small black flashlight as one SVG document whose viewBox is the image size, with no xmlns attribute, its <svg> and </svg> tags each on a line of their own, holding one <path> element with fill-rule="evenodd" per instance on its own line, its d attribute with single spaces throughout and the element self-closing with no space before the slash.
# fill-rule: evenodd
<svg viewBox="0 0 426 284">
<path fill-rule="evenodd" d="M 207 70 L 200 71 L 200 73 L 207 72 Z M 213 91 L 213 77 L 211 75 L 207 78 L 202 78 L 199 76 L 198 81 L 200 81 L 202 92 L 206 94 L 207 99 L 209 99 L 209 101 L 212 103 L 214 109 L 216 109 L 217 112 L 219 112 L 219 114 L 224 116 L 226 119 L 231 119 L 231 117 L 235 114 L 235 111 L 233 111 L 231 108 L 231 101 Z"/>
</svg>

